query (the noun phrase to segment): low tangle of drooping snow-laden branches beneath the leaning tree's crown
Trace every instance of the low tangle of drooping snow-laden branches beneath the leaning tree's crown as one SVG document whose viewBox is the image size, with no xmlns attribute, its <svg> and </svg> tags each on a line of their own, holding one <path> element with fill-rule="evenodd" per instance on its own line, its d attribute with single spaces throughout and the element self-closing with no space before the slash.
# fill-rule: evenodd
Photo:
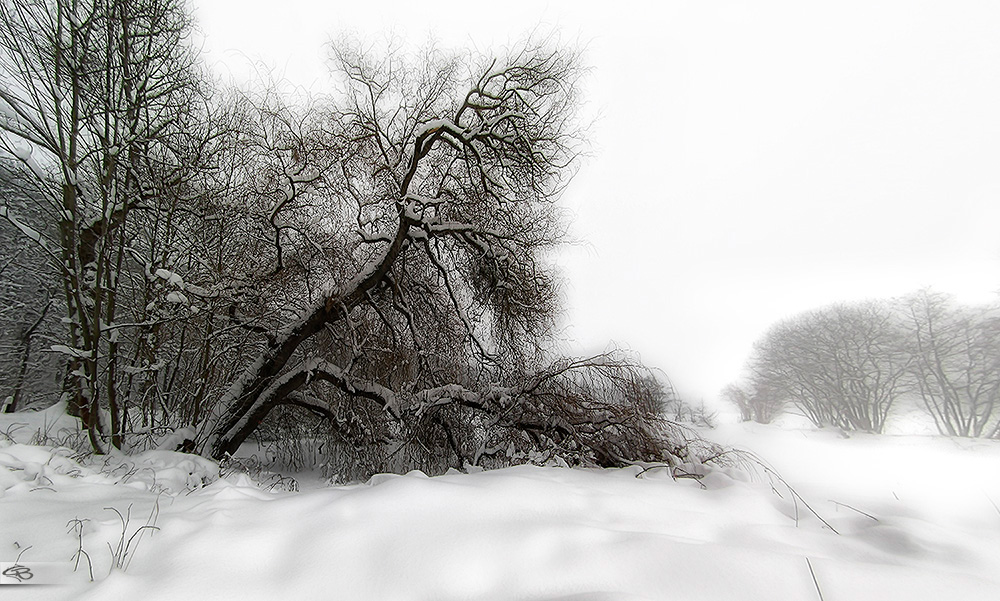
<svg viewBox="0 0 1000 601">
<path fill-rule="evenodd" d="M 322 466 L 341 481 L 381 472 L 522 463 L 622 467 L 726 463 L 721 448 L 667 419 L 659 380 L 620 355 L 563 361 L 517 384 L 477 392 L 450 385 L 401 399 L 399 417 L 350 402 L 324 416 L 283 407 L 258 429 L 274 466 Z"/>
</svg>

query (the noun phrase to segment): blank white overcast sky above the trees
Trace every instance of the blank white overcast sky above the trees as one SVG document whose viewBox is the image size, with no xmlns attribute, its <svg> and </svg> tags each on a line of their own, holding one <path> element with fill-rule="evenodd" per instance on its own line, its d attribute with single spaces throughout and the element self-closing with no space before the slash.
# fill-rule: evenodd
<svg viewBox="0 0 1000 601">
<path fill-rule="evenodd" d="M 773 322 L 932 286 L 1000 290 L 1000 2 L 192 0 L 217 73 L 324 91 L 341 32 L 586 45 L 592 156 L 565 196 L 567 337 L 689 399 Z"/>
</svg>

